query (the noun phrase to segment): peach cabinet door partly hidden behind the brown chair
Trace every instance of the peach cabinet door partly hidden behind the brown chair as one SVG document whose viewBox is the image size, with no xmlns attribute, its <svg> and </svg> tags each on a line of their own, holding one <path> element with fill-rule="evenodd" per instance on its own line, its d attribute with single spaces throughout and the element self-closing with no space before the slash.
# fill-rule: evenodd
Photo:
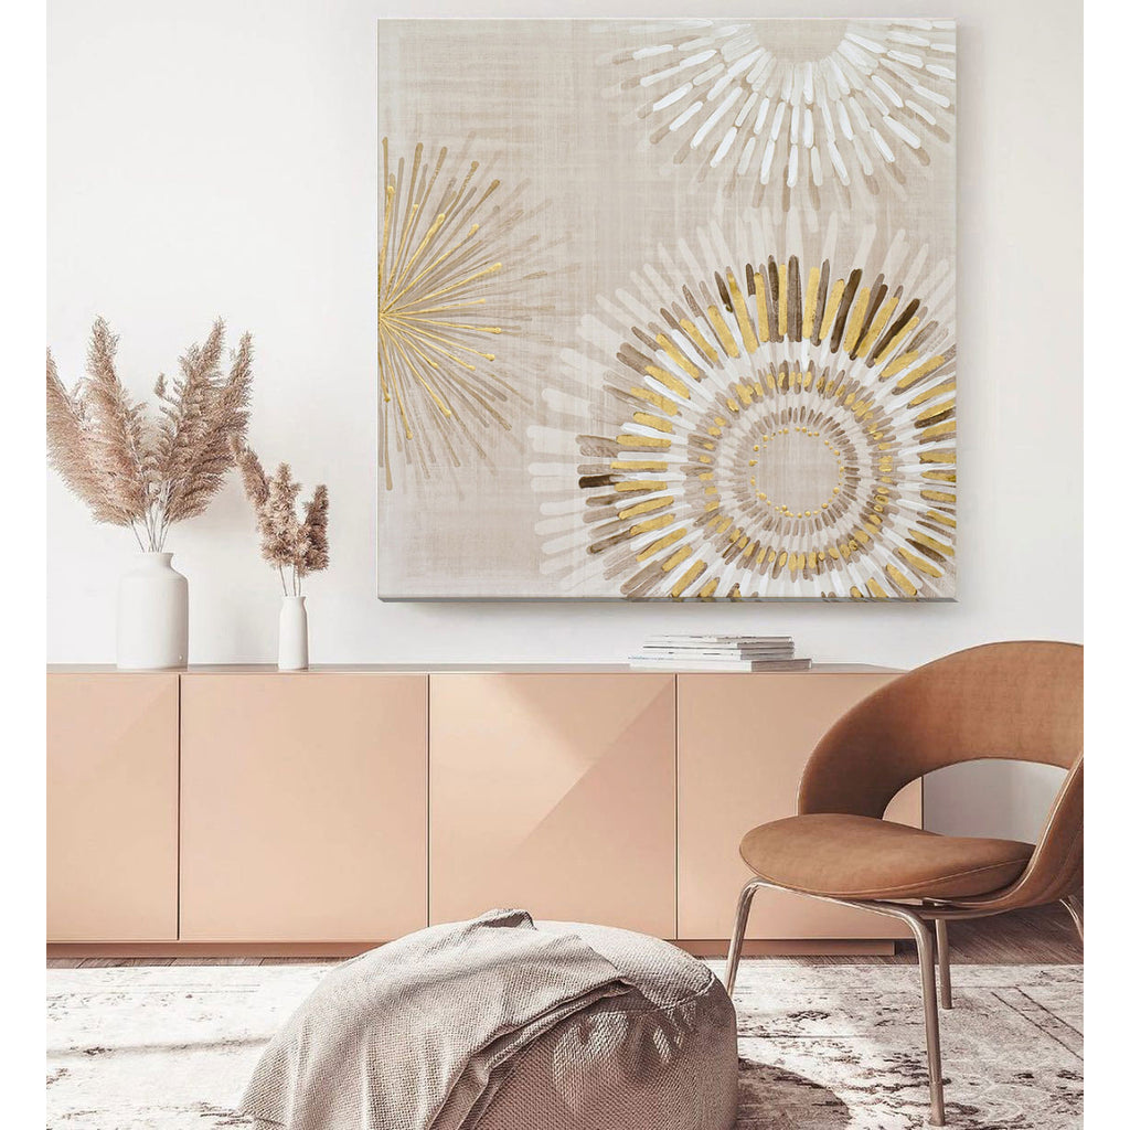
<svg viewBox="0 0 1130 1130">
<path fill-rule="evenodd" d="M 797 815 L 812 748 L 832 724 L 894 673 L 771 672 L 679 676 L 679 937 L 728 938 L 749 871 L 741 837 Z M 921 826 L 921 784 L 887 818 Z M 892 919 L 815 898 L 758 892 L 748 938 L 902 938 Z"/>
</svg>

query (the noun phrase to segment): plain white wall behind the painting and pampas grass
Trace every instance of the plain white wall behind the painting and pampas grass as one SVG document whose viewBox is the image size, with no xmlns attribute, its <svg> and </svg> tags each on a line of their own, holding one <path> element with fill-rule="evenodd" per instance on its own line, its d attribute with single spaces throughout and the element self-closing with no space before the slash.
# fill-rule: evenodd
<svg viewBox="0 0 1130 1130">
<path fill-rule="evenodd" d="M 693 6 L 692 6 L 693 7 Z M 876 15 L 846 0 L 758 16 Z M 921 15 L 886 0 L 883 15 Z M 382 605 L 375 570 L 379 16 L 686 15 L 685 0 L 52 0 L 47 331 L 66 377 L 97 314 L 142 392 L 223 314 L 257 344 L 251 438 L 331 501 L 312 657 L 614 661 L 657 629 L 792 633 L 824 661 L 913 666 L 1003 637 L 1080 640 L 1083 6 L 953 0 L 959 25 L 960 598 L 953 605 Z M 711 15 L 749 15 L 714 0 Z M 473 64 L 473 62 L 471 62 Z M 278 605 L 229 483 L 173 531 L 194 662 L 269 660 Z M 47 484 L 47 658 L 112 661 L 128 531 Z M 974 782 L 970 783 L 971 775 Z M 1046 774 L 963 771 L 942 829 L 1032 833 Z M 958 780 L 959 779 L 959 780 Z M 1003 814 L 971 814 L 991 797 Z M 993 806 L 996 807 L 996 806 Z"/>
</svg>

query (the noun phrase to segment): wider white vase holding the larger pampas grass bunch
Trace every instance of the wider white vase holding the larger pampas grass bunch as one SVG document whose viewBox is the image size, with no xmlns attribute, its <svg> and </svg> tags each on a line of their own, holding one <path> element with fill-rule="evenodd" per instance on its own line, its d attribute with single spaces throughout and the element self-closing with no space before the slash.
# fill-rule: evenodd
<svg viewBox="0 0 1130 1130">
<path fill-rule="evenodd" d="M 189 582 L 172 554 L 141 554 L 118 588 L 118 666 L 160 671 L 189 662 Z"/>
</svg>

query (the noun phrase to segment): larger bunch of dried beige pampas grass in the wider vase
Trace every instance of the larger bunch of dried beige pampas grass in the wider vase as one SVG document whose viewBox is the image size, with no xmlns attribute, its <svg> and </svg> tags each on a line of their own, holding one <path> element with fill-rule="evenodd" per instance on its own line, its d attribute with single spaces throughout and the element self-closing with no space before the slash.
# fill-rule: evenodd
<svg viewBox="0 0 1130 1130">
<path fill-rule="evenodd" d="M 181 358 L 172 388 L 156 384 L 155 424 L 118 376 L 118 338 L 97 319 L 86 379 L 68 392 L 47 351 L 47 452 L 63 484 L 96 522 L 129 525 L 144 549 L 164 548 L 168 527 L 203 513 L 247 429 L 251 337 L 220 372 L 224 323 Z"/>
</svg>

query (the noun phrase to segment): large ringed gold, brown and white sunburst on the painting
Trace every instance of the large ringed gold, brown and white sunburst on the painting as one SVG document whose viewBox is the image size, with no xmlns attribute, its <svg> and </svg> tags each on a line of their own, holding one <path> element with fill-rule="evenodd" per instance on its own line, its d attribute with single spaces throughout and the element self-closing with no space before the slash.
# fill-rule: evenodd
<svg viewBox="0 0 1130 1130">
<path fill-rule="evenodd" d="M 586 321 L 533 473 L 566 592 L 954 596 L 953 268 L 836 227 L 714 224 Z"/>
</svg>

